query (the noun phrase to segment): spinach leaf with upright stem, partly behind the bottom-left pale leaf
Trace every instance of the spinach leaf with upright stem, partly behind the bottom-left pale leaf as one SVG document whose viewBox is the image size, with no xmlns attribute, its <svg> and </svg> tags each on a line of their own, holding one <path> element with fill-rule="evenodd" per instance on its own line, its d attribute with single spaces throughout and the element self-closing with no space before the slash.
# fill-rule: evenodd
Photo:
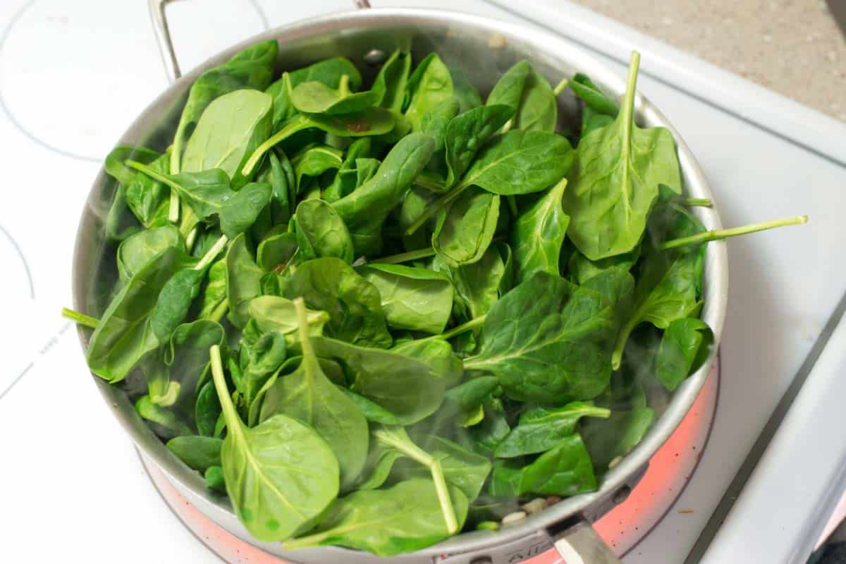
<svg viewBox="0 0 846 564">
<path fill-rule="evenodd" d="M 284 413 L 317 431 L 338 457 L 341 489 L 358 478 L 367 457 L 367 420 L 338 387 L 323 374 L 311 347 L 310 326 L 305 303 L 294 300 L 299 326 L 299 346 L 303 359 L 294 374 L 276 381 L 266 392 L 261 406 L 262 421 Z"/>
</svg>

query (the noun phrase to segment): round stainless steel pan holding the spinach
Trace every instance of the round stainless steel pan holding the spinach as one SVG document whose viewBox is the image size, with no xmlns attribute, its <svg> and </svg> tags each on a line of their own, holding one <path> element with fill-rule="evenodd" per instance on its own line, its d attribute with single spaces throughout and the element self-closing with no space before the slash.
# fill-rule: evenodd
<svg viewBox="0 0 846 564">
<path fill-rule="evenodd" d="M 501 74 L 520 59 L 528 59 L 552 83 L 562 77 L 583 71 L 605 90 L 618 97 L 625 90 L 624 77 L 613 74 L 590 55 L 536 29 L 528 29 L 495 19 L 429 9 L 378 8 L 332 14 L 285 25 L 255 36 L 240 45 L 218 53 L 206 63 L 179 78 L 179 65 L 170 43 L 164 4 L 168 0 L 150 0 L 151 14 L 157 30 L 165 67 L 173 84 L 153 101 L 150 107 L 119 140 L 129 145 L 148 145 L 164 149 L 173 138 L 190 85 L 207 68 L 214 67 L 235 52 L 254 43 L 275 39 L 279 43 L 279 68 L 297 68 L 324 57 L 349 57 L 360 68 L 371 69 L 386 53 L 398 47 L 410 48 L 415 58 L 435 51 L 448 64 L 459 68 L 481 91 L 490 90 Z M 368 8 L 365 1 L 357 2 Z M 561 115 L 574 117 L 576 102 L 572 96 L 559 96 Z M 641 125 L 663 126 L 670 129 L 678 145 L 686 194 L 695 198 L 711 198 L 706 178 L 684 140 L 643 96 L 635 103 L 636 116 Z M 114 186 L 101 170 L 82 212 L 76 238 L 74 256 L 74 306 L 91 315 L 102 314 L 108 291 L 113 283 L 114 249 L 104 234 L 105 210 L 113 198 Z M 709 229 L 721 228 L 716 210 L 700 208 L 700 220 Z M 708 244 L 705 263 L 704 300 L 702 317 L 714 331 L 716 342 L 722 333 L 726 312 L 728 263 L 725 244 Z M 83 348 L 88 336 L 80 331 Z M 716 350 L 716 348 L 715 348 Z M 135 413 L 126 392 L 93 376 L 96 386 L 115 417 L 124 426 L 145 457 L 162 469 L 173 485 L 206 517 L 241 539 L 282 556 L 291 562 L 316 564 L 338 562 L 402 562 L 443 564 L 499 564 L 519 562 L 555 545 L 568 564 L 585 562 L 602 564 L 615 562 L 602 540 L 593 532 L 590 523 L 616 503 L 624 501 L 649 464 L 651 456 L 662 446 L 684 418 L 700 387 L 708 375 L 710 362 L 689 377 L 673 394 L 651 397 L 651 407 L 658 418 L 640 445 L 612 468 L 602 480 L 599 490 L 570 497 L 547 510 L 531 515 L 519 523 L 503 527 L 497 532 L 479 531 L 460 534 L 447 541 L 415 553 L 387 559 L 339 548 L 316 548 L 288 552 L 273 543 L 252 539 L 235 517 L 228 500 L 206 490 L 204 480 L 186 467 L 159 441 Z"/>
</svg>

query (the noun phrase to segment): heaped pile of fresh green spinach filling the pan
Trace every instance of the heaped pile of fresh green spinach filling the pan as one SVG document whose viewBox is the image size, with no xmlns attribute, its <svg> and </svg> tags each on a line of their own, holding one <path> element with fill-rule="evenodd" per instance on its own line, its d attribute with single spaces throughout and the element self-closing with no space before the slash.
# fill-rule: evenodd
<svg viewBox="0 0 846 564">
<path fill-rule="evenodd" d="M 116 287 L 87 359 L 255 538 L 387 556 L 573 496 L 711 354 L 705 243 L 667 129 L 525 61 L 486 102 L 437 54 L 272 82 L 275 42 L 121 146 Z M 414 68 L 412 70 L 412 68 Z M 119 226 L 120 228 L 109 228 Z M 481 524 L 479 524 L 481 523 Z"/>
</svg>

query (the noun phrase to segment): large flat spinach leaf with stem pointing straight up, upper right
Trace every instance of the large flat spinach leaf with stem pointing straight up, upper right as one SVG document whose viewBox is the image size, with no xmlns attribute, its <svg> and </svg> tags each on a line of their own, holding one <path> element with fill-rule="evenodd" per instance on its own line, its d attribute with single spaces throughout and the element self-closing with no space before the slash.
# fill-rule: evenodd
<svg viewBox="0 0 846 564">
<path fill-rule="evenodd" d="M 640 242 L 659 184 L 681 192 L 678 158 L 668 129 L 634 123 L 640 56 L 632 54 L 626 96 L 613 123 L 585 135 L 564 193 L 569 238 L 587 258 L 628 253 Z"/>
</svg>

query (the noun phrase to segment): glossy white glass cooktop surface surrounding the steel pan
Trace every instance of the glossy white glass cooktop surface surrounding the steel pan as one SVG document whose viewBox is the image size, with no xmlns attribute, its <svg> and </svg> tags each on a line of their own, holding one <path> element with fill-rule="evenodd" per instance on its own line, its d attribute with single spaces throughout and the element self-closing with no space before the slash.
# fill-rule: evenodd
<svg viewBox="0 0 846 564">
<path fill-rule="evenodd" d="M 372 3 L 527 25 L 534 24 L 525 17 L 535 17 L 621 77 L 638 47 L 639 90 L 699 159 L 727 226 L 810 216 L 805 227 L 728 244 L 729 314 L 711 438 L 675 506 L 624 559 L 684 561 L 846 292 L 846 263 L 838 260 L 846 126 L 567 2 L 521 2 L 523 15 L 482 0 Z M 168 15 L 187 70 L 269 26 L 350 5 L 190 0 Z M 0 3 L 0 561 L 218 561 L 162 503 L 92 385 L 73 327 L 58 315 L 71 304 L 73 234 L 100 161 L 166 85 L 145 2 Z"/>
</svg>

